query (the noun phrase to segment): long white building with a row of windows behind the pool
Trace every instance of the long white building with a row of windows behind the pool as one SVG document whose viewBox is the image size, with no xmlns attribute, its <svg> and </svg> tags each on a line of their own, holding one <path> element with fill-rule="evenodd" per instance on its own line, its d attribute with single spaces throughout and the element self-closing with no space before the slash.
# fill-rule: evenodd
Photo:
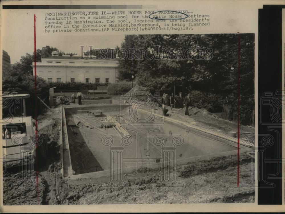
<svg viewBox="0 0 285 214">
<path fill-rule="evenodd" d="M 49 82 L 115 83 L 118 73 L 118 60 L 80 59 L 80 55 L 52 56 L 36 63 L 36 75 Z M 33 75 L 35 74 L 34 62 Z"/>
</svg>

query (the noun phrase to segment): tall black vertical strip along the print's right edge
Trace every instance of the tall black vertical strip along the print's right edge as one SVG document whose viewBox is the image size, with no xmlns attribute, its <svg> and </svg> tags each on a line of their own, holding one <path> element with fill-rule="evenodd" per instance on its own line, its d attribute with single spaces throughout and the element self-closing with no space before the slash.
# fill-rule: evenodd
<svg viewBox="0 0 285 214">
<path fill-rule="evenodd" d="M 281 205 L 281 177 L 284 170 L 282 169 L 282 108 L 276 108 L 276 106 L 282 104 L 280 94 L 281 90 L 284 90 L 282 86 L 282 7 L 264 5 L 258 12 L 257 203 L 258 205 Z M 267 97 L 264 93 L 267 93 Z M 264 99 L 275 100 L 275 104 L 271 102 L 271 108 L 266 108 L 263 104 Z M 275 112 L 275 120 L 273 120 L 272 112 L 276 109 L 278 112 Z M 273 137 L 271 146 L 264 146 L 264 136 Z M 270 159 L 275 162 L 268 163 Z M 275 178 L 268 178 L 272 174 L 275 174 Z M 268 187 L 268 183 L 273 184 L 273 187 Z"/>
</svg>

